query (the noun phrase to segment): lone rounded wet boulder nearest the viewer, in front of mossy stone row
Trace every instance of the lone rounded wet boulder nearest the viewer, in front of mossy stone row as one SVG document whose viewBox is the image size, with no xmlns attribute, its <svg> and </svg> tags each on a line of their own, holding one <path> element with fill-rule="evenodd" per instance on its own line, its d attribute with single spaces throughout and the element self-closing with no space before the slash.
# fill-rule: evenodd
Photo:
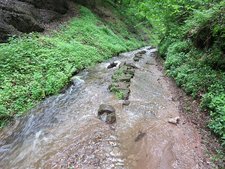
<svg viewBox="0 0 225 169">
<path fill-rule="evenodd" d="M 116 122 L 116 110 L 111 105 L 101 104 L 98 110 L 98 118 L 107 124 Z"/>
</svg>

